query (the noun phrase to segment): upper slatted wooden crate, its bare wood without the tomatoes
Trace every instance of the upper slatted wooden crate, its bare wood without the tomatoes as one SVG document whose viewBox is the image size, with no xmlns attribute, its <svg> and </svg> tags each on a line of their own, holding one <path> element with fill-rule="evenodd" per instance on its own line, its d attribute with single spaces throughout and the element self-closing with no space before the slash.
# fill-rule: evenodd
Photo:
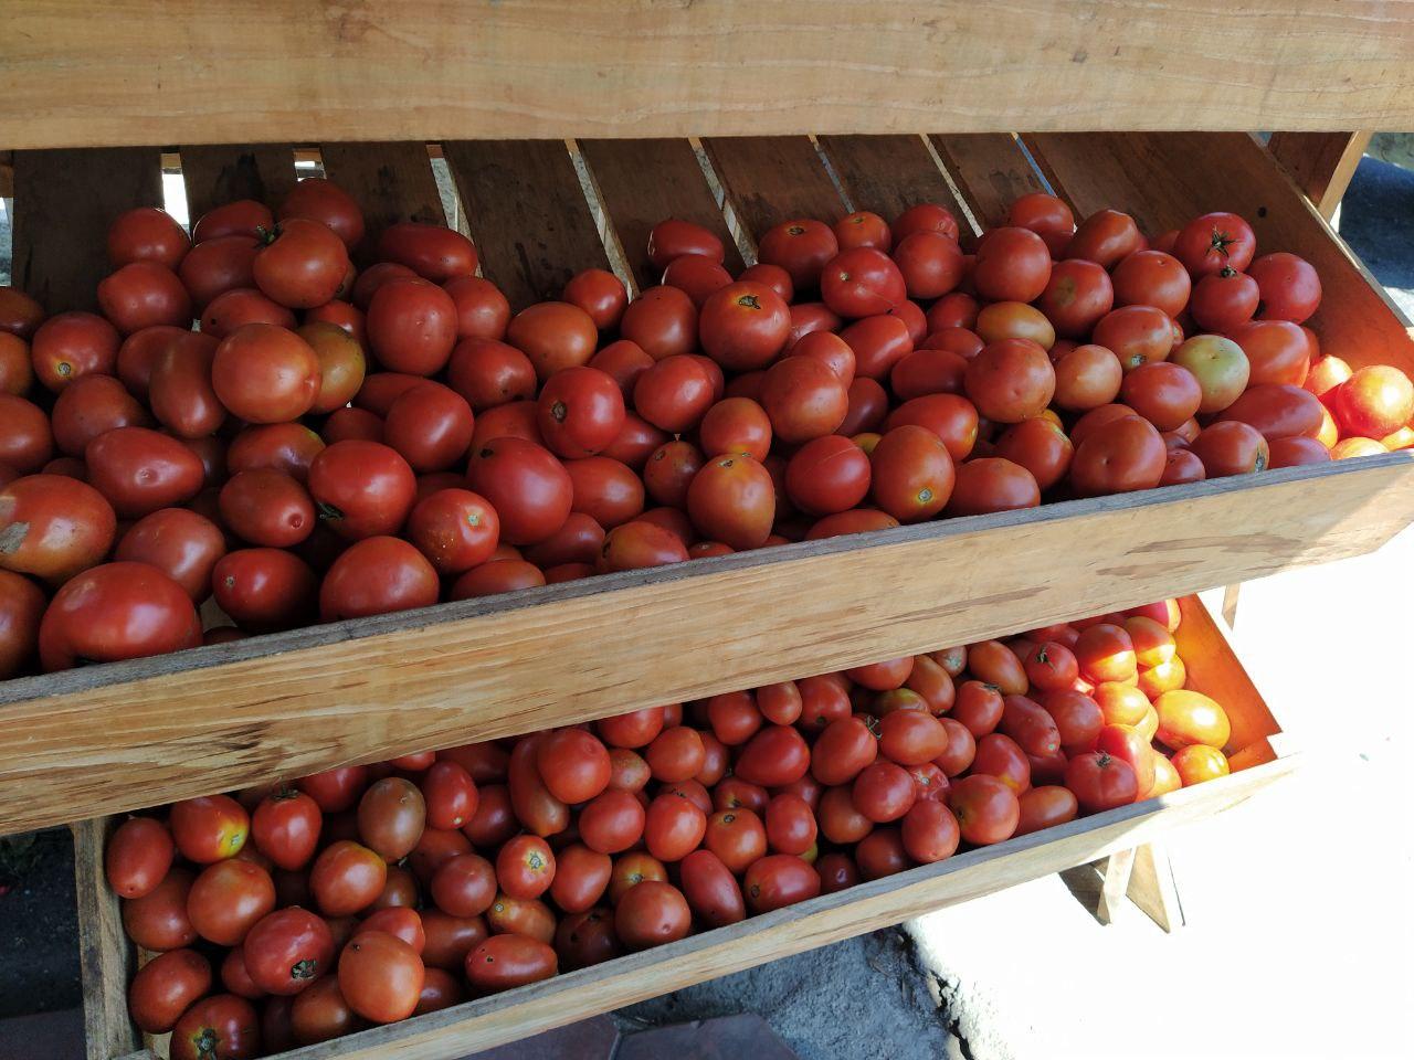
<svg viewBox="0 0 1414 1060">
<path fill-rule="evenodd" d="M 665 216 L 732 245 L 730 215 L 751 257 L 752 237 L 790 216 L 939 201 L 987 226 L 1015 195 L 1049 185 L 1079 215 L 1113 205 L 1154 233 L 1241 212 L 1260 247 L 1319 270 L 1312 326 L 1328 352 L 1414 375 L 1407 322 L 1246 134 L 444 141 L 437 153 L 485 273 L 516 305 L 611 261 L 652 283 L 646 230 Z M 178 154 L 194 212 L 279 195 L 294 178 L 290 144 Z M 99 233 L 120 209 L 157 201 L 160 158 L 17 151 L 17 283 L 54 307 L 92 298 Z M 368 206 L 373 230 L 444 216 L 424 143 L 325 144 L 322 165 Z M 1391 452 L 16 680 L 0 684 L 0 832 L 974 642 L 1360 554 L 1411 519 L 1414 452 Z"/>
</svg>

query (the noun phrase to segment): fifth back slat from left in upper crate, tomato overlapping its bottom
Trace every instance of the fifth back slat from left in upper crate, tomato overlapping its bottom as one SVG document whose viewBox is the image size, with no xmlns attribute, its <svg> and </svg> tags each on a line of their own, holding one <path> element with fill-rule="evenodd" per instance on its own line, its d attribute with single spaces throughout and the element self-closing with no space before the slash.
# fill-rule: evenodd
<svg viewBox="0 0 1414 1060">
<path fill-rule="evenodd" d="M 648 233 L 667 218 L 691 220 L 715 232 L 727 252 L 723 263 L 727 271 L 732 276 L 741 271 L 741 252 L 687 140 L 578 143 L 639 288 L 652 287 L 662 278 L 648 260 Z"/>
</svg>

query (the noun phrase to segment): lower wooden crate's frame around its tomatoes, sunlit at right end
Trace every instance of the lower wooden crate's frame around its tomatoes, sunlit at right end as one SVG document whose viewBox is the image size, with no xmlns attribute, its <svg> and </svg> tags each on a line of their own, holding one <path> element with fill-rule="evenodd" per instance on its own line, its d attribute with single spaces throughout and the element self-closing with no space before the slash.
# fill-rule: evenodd
<svg viewBox="0 0 1414 1060">
<path fill-rule="evenodd" d="M 1176 654 L 1182 660 L 1178 680 L 1185 681 L 1188 690 L 1202 693 L 1223 707 L 1230 731 L 1223 748 L 1232 769 L 1227 775 L 1192 783 L 1196 776 L 1191 769 L 1181 766 L 1179 772 L 1185 775 L 1184 779 L 1191 786 L 1157 797 L 1082 815 L 993 845 L 970 847 L 963 842 L 959 852 L 942 861 L 854 882 L 851 886 L 833 892 L 827 886 L 827 893 L 819 893 L 816 897 L 795 905 L 771 909 L 755 916 L 748 914 L 737 923 L 699 930 L 696 934 L 677 937 L 676 941 L 540 978 L 527 985 L 479 996 L 402 1022 L 372 1026 L 342 1037 L 286 1052 L 277 1052 L 279 1046 L 276 1046 L 273 1050 L 239 1054 L 276 1054 L 287 1060 L 327 1060 L 328 1057 L 373 1060 L 373 1057 L 393 1054 L 402 1060 L 444 1060 L 840 938 L 896 924 L 929 910 L 981 897 L 1017 883 L 1094 861 L 1114 851 L 1131 848 L 1169 828 L 1199 821 L 1233 807 L 1288 773 L 1294 759 L 1284 749 L 1282 734 L 1275 718 L 1243 670 L 1220 625 L 1213 620 L 1196 596 L 1178 601 L 1178 612 L 1181 620 L 1172 633 L 1172 647 L 1176 647 Z M 1135 647 L 1140 649 L 1143 659 L 1145 647 L 1138 643 L 1141 632 L 1135 630 Z M 1148 647 L 1150 661 L 1155 659 L 1154 652 L 1162 654 L 1162 650 L 1152 644 Z M 1045 653 L 1041 654 L 1041 661 L 1045 663 Z M 1102 664 L 1103 660 L 1097 663 L 1097 666 Z M 981 670 L 980 657 L 974 666 Z M 1141 669 L 1141 678 L 1143 676 L 1144 670 Z M 1162 674 L 1155 676 L 1154 680 L 1157 681 L 1159 677 Z M 1031 684 L 1032 688 L 1028 691 L 1038 694 L 1035 676 Z M 1155 690 L 1150 687 L 1152 681 L 1145 685 L 1145 681 L 1141 680 L 1140 684 L 1148 687 L 1150 694 L 1154 694 Z M 857 702 L 855 707 L 858 705 Z M 1140 724 L 1138 728 L 1143 729 L 1144 725 Z M 1159 736 L 1164 735 L 1161 731 Z M 1168 739 L 1171 745 L 1175 742 L 1172 735 Z M 1072 749 L 1072 758 L 1079 753 L 1082 752 Z M 1215 758 L 1222 760 L 1222 756 Z M 1066 779 L 1076 790 L 1082 790 L 1083 782 L 1076 783 L 1069 776 Z M 1052 780 L 1052 783 L 1058 782 Z M 1176 784 L 1176 776 L 1174 783 Z M 855 804 L 858 804 L 858 799 L 860 796 L 855 794 Z M 191 1052 L 189 1049 L 187 1052 L 174 1049 L 168 1035 L 140 1035 L 127 1009 L 129 984 L 134 968 L 139 962 L 153 958 L 154 954 L 139 953 L 133 948 L 124 934 L 120 899 L 112 893 L 107 885 L 105 844 L 116 825 L 116 818 L 106 818 L 86 821 L 75 827 L 88 1056 L 90 1060 L 113 1060 L 129 1056 L 134 1060 L 168 1056 L 181 1060 L 187 1052 Z M 966 840 L 966 825 L 963 831 Z M 652 844 L 652 840 L 649 842 Z M 775 845 L 775 840 L 772 844 Z M 178 834 L 178 847 L 181 845 L 182 840 Z M 782 842 L 782 845 L 785 844 Z M 829 844 L 822 844 L 822 847 L 829 848 Z M 488 856 L 491 855 L 488 854 Z M 863 856 L 860 861 L 864 861 Z M 911 859 L 905 859 L 902 864 L 908 864 L 908 861 Z M 501 866 L 498 866 L 498 873 L 499 871 Z M 677 875 L 670 875 L 670 878 L 679 879 Z M 505 881 L 502 883 L 509 889 L 509 883 Z M 751 886 L 749 872 L 747 886 Z M 317 886 L 315 890 L 318 890 Z M 612 896 L 611 885 L 608 897 Z M 601 900 L 604 899 L 601 897 Z M 748 905 L 758 903 L 748 899 Z M 694 917 L 696 926 L 706 927 L 700 916 L 701 910 L 694 907 L 694 913 L 699 914 Z M 365 938 L 369 937 L 365 936 Z M 393 948 L 396 950 L 396 947 Z M 223 950 L 214 950 L 215 960 L 211 961 L 216 979 L 214 991 L 218 994 L 222 989 L 219 958 L 223 953 Z M 457 988 L 462 989 L 465 979 L 458 975 L 457 981 Z M 475 989 L 468 991 L 468 994 L 475 992 Z M 259 1011 L 260 1003 L 257 1001 L 256 1009 L 245 1009 L 245 1012 Z M 366 1026 L 366 1023 L 355 1020 L 352 1026 Z M 228 1056 L 219 1049 L 211 1054 Z"/>
</svg>

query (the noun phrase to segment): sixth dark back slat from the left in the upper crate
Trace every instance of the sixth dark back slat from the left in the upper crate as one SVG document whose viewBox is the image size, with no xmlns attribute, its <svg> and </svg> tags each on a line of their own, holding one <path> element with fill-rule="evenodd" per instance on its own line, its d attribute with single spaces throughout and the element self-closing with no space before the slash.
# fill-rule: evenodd
<svg viewBox="0 0 1414 1060">
<path fill-rule="evenodd" d="M 805 136 L 738 136 L 703 140 L 737 216 L 754 237 L 772 225 L 814 218 L 833 225 L 844 201 Z"/>
</svg>

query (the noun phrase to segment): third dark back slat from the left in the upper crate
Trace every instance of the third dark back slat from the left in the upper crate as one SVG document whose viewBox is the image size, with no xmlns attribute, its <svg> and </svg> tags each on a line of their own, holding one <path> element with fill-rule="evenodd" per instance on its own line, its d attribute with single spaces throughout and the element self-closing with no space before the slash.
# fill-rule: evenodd
<svg viewBox="0 0 1414 1060">
<path fill-rule="evenodd" d="M 324 174 L 363 208 L 363 260 L 379 233 L 400 220 L 445 225 L 427 144 L 327 143 L 320 147 Z"/>
</svg>

